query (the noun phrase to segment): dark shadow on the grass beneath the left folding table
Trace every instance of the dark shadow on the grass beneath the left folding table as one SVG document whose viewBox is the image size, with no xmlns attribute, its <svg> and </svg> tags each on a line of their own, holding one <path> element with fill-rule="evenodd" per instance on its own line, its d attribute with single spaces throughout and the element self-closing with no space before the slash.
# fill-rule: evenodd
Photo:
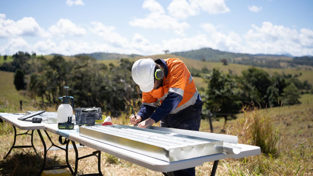
<svg viewBox="0 0 313 176">
<path fill-rule="evenodd" d="M 43 165 L 43 156 L 35 153 L 15 153 L 10 154 L 5 160 L 0 160 L 0 175 L 25 175 L 35 176 L 38 175 Z M 61 165 L 57 156 L 54 158 L 47 158 L 47 166 Z"/>
</svg>

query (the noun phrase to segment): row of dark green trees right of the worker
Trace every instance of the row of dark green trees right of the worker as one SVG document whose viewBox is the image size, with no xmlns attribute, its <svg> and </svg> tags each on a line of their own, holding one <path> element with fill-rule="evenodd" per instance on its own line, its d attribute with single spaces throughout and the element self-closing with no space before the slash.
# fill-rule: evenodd
<svg viewBox="0 0 313 176">
<path fill-rule="evenodd" d="M 313 93 L 312 85 L 301 82 L 297 75 L 269 75 L 262 69 L 251 67 L 241 76 L 223 73 L 214 68 L 202 77 L 207 87 L 202 92 L 203 114 L 234 118 L 243 106 L 259 108 L 299 104 L 301 93 Z"/>
</svg>

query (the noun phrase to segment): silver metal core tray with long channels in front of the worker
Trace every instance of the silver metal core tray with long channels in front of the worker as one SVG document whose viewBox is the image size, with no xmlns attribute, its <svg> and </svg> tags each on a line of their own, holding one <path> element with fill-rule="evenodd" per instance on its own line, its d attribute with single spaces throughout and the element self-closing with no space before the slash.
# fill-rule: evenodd
<svg viewBox="0 0 313 176">
<path fill-rule="evenodd" d="M 223 141 L 126 125 L 80 127 L 79 135 L 167 162 L 223 153 Z"/>
</svg>

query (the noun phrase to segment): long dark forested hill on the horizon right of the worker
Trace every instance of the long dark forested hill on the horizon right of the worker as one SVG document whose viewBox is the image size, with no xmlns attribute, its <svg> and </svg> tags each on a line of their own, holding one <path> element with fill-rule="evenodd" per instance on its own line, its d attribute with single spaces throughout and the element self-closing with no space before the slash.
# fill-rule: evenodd
<svg viewBox="0 0 313 176">
<path fill-rule="evenodd" d="M 268 68 L 282 68 L 281 62 L 289 62 L 292 60 L 291 57 L 285 55 L 231 53 L 212 48 L 174 52 L 172 54 L 194 60 L 205 60 L 207 62 L 221 62 L 222 59 L 227 59 L 228 63 Z"/>
</svg>

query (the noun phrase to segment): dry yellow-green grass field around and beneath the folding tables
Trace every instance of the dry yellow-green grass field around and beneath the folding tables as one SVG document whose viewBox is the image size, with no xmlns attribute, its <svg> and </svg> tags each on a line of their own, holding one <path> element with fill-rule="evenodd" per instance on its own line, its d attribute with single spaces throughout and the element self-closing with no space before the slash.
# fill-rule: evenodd
<svg viewBox="0 0 313 176">
<path fill-rule="evenodd" d="M 13 85 L 13 73 L 0 71 L 0 112 L 25 112 L 26 110 L 36 110 L 39 105 L 36 100 L 32 100 L 23 91 L 16 91 Z M 19 101 L 25 101 L 23 110 L 19 109 Z M 278 130 L 279 139 L 275 148 L 275 156 L 264 153 L 258 156 L 220 160 L 216 175 L 220 176 L 249 176 L 249 175 L 305 175 L 313 176 L 313 95 L 301 95 L 300 105 L 282 106 L 241 113 L 235 120 L 226 123 L 226 134 L 236 135 L 240 143 L 252 144 L 251 134 L 252 124 L 255 114 L 263 117 L 262 124 L 271 124 L 271 128 L 266 131 Z M 56 111 L 56 107 L 46 107 L 46 110 Z M 127 124 L 125 116 L 114 117 L 114 124 Z M 264 123 L 268 122 L 268 123 Z M 219 133 L 223 128 L 224 121 L 213 120 L 213 132 Z M 260 125 L 261 127 L 263 125 Z M 156 124 L 157 125 L 157 124 Z M 18 133 L 24 131 L 18 130 Z M 209 132 L 207 120 L 201 121 L 200 131 Z M 57 143 L 58 136 L 50 134 L 53 142 Z M 268 133 L 270 134 L 270 133 Z M 43 147 L 37 132 L 34 135 L 34 145 L 41 155 L 38 156 L 31 149 L 13 149 L 6 160 L 3 157 L 8 152 L 13 143 L 13 127 L 4 122 L 0 123 L 0 176 L 5 175 L 35 175 L 38 173 L 41 162 Z M 270 137 L 270 135 L 269 135 Z M 44 135 L 47 142 L 48 138 Z M 16 145 L 29 145 L 30 136 L 18 136 Z M 266 138 L 265 138 L 266 140 Z M 47 142 L 49 145 L 49 142 Z M 79 148 L 79 156 L 90 154 L 94 150 L 88 147 Z M 48 152 L 48 165 L 59 165 L 65 163 L 64 151 L 52 150 Z M 74 166 L 74 150 L 69 150 L 69 161 Z M 207 176 L 211 173 L 213 162 L 203 163 L 196 167 L 196 175 Z M 105 176 L 119 175 L 159 175 L 144 167 L 118 159 L 112 155 L 102 153 L 101 170 Z M 79 161 L 78 174 L 95 173 L 97 171 L 96 158 L 90 157 Z"/>
</svg>

